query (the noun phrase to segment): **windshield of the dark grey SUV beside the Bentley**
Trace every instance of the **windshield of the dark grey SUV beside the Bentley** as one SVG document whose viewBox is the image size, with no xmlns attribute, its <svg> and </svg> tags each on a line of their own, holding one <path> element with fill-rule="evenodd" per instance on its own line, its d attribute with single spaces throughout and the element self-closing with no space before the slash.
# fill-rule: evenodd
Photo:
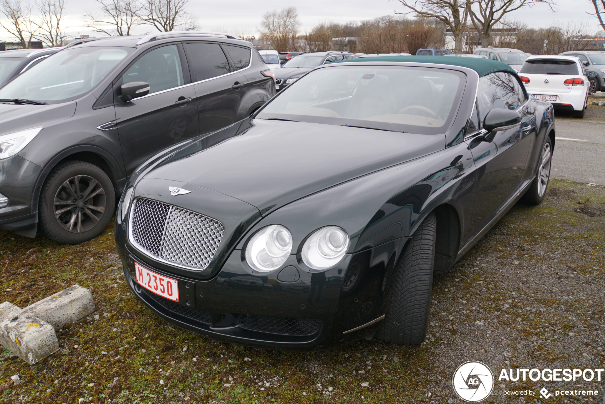
<svg viewBox="0 0 605 404">
<path fill-rule="evenodd" d="M 68 48 L 42 60 L 0 88 L 0 99 L 71 100 L 92 90 L 131 48 Z"/>
</svg>

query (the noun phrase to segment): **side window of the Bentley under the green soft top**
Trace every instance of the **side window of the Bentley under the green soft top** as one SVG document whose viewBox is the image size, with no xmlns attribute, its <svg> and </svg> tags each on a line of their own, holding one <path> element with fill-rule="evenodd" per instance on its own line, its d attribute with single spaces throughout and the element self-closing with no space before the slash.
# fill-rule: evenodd
<svg viewBox="0 0 605 404">
<path fill-rule="evenodd" d="M 492 73 L 479 79 L 479 117 L 494 108 L 517 109 L 525 101 L 525 93 L 518 80 L 510 73 Z"/>
</svg>

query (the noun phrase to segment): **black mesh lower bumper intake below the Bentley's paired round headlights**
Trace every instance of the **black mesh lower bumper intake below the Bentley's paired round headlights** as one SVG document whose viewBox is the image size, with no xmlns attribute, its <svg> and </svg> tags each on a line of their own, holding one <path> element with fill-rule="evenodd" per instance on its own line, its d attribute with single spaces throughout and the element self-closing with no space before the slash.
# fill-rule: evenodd
<svg viewBox="0 0 605 404">
<path fill-rule="evenodd" d="M 321 327 L 321 320 L 242 314 L 238 325 L 246 330 L 263 333 L 304 336 L 315 334 Z"/>
</svg>

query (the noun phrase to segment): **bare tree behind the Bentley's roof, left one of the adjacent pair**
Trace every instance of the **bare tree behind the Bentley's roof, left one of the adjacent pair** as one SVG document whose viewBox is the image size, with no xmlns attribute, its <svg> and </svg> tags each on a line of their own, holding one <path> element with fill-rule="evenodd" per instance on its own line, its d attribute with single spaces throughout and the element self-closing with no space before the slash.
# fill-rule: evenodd
<svg viewBox="0 0 605 404">
<path fill-rule="evenodd" d="M 454 41 L 456 41 L 455 51 L 460 53 L 462 50 L 462 36 L 466 30 L 468 22 L 468 0 L 398 0 L 404 7 L 410 11 L 409 14 L 416 13 L 419 17 L 435 18 L 450 28 Z"/>
</svg>

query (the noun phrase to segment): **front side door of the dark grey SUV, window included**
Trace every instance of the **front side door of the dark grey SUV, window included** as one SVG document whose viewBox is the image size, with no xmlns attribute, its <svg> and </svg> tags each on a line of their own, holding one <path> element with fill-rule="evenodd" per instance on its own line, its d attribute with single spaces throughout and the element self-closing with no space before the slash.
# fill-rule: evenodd
<svg viewBox="0 0 605 404">
<path fill-rule="evenodd" d="M 116 123 L 126 175 L 151 155 L 198 131 L 195 92 L 180 44 L 149 50 L 116 83 L 149 83 L 149 94 L 116 100 Z M 119 91 L 117 91 L 119 94 Z"/>
</svg>

